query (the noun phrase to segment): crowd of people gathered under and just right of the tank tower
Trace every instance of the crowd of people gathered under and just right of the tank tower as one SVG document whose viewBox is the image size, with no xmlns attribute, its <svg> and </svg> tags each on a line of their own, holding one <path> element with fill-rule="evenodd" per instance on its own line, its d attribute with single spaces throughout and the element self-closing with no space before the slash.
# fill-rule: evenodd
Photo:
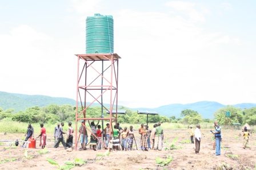
<svg viewBox="0 0 256 170">
<path fill-rule="evenodd" d="M 81 121 L 82 124 L 85 123 Z M 101 130 L 101 125 L 94 122 L 89 122 L 91 127 L 90 144 L 88 144 L 88 133 L 85 125 L 79 127 L 79 132 L 81 134 L 81 148 L 79 150 L 87 150 L 87 144 L 92 147 L 94 151 L 100 150 L 101 148 L 111 150 L 122 150 L 129 151 L 133 148 L 133 143 L 135 140 L 133 126 L 122 128 L 119 123 L 114 125 L 113 131 L 110 131 L 110 124 L 107 123 L 106 127 Z M 97 129 L 98 128 L 98 129 Z M 141 124 L 141 128 L 138 130 L 141 135 L 141 150 L 148 151 L 149 149 L 162 150 L 163 145 L 163 128 L 161 123 L 154 125 L 153 130 L 149 130 L 149 126 Z M 103 134 L 103 136 L 102 136 Z M 103 143 L 103 139 L 105 139 Z M 150 139 L 152 142 L 150 142 Z M 152 143 L 152 146 L 151 144 Z M 135 141 L 137 146 L 137 143 Z"/>
</svg>

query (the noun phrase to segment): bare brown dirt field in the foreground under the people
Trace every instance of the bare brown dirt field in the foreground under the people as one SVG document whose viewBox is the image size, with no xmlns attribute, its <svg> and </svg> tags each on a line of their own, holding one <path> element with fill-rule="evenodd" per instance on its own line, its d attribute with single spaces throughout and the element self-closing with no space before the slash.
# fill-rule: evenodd
<svg viewBox="0 0 256 170">
<path fill-rule="evenodd" d="M 51 165 L 46 158 L 55 160 L 59 165 L 63 165 L 65 161 L 73 161 L 75 158 L 82 158 L 87 160 L 87 163 L 81 167 L 74 167 L 72 169 L 220 169 L 223 163 L 225 163 L 225 169 L 255 169 L 256 163 L 256 138 L 254 134 L 250 134 L 249 144 L 251 149 L 243 149 L 242 141 L 243 136 L 241 130 L 222 130 L 223 140 L 221 143 L 221 155 L 215 156 L 215 150 L 213 150 L 214 140 L 210 130 L 201 129 L 202 140 L 200 155 L 195 154 L 195 145 L 186 143 L 185 140 L 190 139 L 189 129 L 173 129 L 164 130 L 165 139 L 171 143 L 174 138 L 178 137 L 175 146 L 178 146 L 178 150 L 164 150 L 167 146 L 163 144 L 162 151 L 141 151 L 136 150 L 133 147 L 133 151 L 113 151 L 109 156 L 96 156 L 97 154 L 103 154 L 106 150 L 85 150 L 85 151 L 72 151 L 67 152 L 63 146 L 59 148 L 53 148 L 53 135 L 47 135 L 47 150 L 50 151 L 47 154 L 39 154 L 38 151 L 42 150 L 39 147 L 39 141 L 37 140 L 37 148 L 18 148 L 5 149 L 7 142 L 3 142 L 4 146 L 0 146 L 0 160 L 17 158 L 15 161 L 9 161 L 0 164 L 0 169 L 58 169 L 57 165 Z M 241 136 L 239 136 L 241 134 Z M 0 134 L 2 140 L 21 140 L 23 134 Z M 139 147 L 139 134 L 135 135 Z M 182 142 L 182 143 L 181 143 Z M 135 143 L 134 143 L 135 145 Z M 80 144 L 78 144 L 80 147 Z M 181 148 L 180 148 L 181 147 Z M 87 147 L 89 148 L 89 147 Z M 169 148 L 169 147 L 168 147 Z M 24 151 L 28 151 L 29 156 L 34 156 L 31 159 L 24 158 Z M 239 157 L 229 157 L 230 155 L 238 155 Z M 159 167 L 156 164 L 156 157 L 166 159 L 167 156 L 172 156 L 173 161 L 164 167 Z M 229 168 L 228 168 L 229 167 Z"/>
</svg>

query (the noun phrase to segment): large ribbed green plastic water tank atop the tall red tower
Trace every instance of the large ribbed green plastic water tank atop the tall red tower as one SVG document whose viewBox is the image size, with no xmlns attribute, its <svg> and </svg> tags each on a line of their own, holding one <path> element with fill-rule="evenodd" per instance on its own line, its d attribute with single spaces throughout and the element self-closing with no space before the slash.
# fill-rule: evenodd
<svg viewBox="0 0 256 170">
<path fill-rule="evenodd" d="M 114 20 L 111 15 L 86 18 L 86 48 L 89 53 L 114 53 Z"/>
</svg>

